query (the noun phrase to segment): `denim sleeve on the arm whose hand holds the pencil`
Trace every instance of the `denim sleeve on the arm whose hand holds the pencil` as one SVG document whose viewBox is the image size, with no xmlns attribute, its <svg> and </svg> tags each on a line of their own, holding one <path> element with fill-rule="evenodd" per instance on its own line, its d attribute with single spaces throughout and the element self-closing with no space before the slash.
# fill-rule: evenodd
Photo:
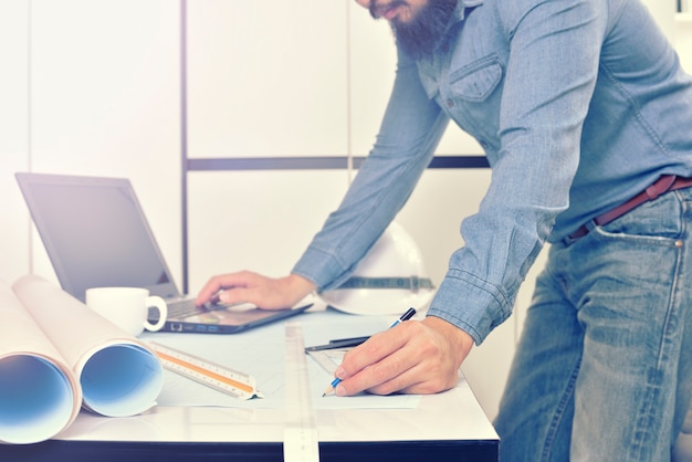
<svg viewBox="0 0 692 462">
<path fill-rule="evenodd" d="M 497 151 L 489 153 L 492 181 L 479 212 L 462 223 L 464 246 L 450 259 L 429 309 L 479 344 L 512 313 L 556 217 L 569 206 L 607 2 L 490 3 L 507 50 L 497 113 L 484 109 L 497 120 Z"/>
</svg>

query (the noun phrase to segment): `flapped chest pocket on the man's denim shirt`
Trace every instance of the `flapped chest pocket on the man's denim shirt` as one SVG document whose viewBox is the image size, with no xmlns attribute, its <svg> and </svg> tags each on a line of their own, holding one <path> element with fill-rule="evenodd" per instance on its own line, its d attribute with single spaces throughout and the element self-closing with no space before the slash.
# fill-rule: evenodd
<svg viewBox="0 0 692 462">
<path fill-rule="evenodd" d="M 502 81 L 502 65 L 490 55 L 454 70 L 449 76 L 450 96 L 468 102 L 482 102 Z"/>
</svg>

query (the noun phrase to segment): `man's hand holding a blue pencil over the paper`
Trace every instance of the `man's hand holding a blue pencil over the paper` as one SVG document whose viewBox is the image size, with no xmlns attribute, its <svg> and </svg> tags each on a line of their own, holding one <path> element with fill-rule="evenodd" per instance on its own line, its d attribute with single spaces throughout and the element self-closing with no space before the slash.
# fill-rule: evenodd
<svg viewBox="0 0 692 462">
<path fill-rule="evenodd" d="M 439 317 L 407 321 L 374 335 L 344 356 L 336 370 L 336 395 L 360 391 L 430 395 L 457 385 L 459 367 L 473 338 Z"/>
</svg>

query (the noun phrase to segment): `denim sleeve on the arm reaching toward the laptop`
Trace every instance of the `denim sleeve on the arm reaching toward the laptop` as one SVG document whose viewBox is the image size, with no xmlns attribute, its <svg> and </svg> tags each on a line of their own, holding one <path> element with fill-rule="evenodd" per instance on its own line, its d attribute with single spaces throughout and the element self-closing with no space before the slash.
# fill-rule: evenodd
<svg viewBox="0 0 692 462">
<path fill-rule="evenodd" d="M 338 209 L 292 272 L 319 290 L 340 285 L 373 246 L 432 158 L 448 116 L 428 98 L 416 63 L 399 54 L 395 84 L 376 143 Z"/>
</svg>

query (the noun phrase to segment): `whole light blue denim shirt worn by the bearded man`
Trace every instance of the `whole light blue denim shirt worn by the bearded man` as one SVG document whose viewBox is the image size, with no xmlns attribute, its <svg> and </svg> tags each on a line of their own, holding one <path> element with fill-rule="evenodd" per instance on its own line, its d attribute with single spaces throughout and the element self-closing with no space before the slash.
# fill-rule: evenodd
<svg viewBox="0 0 692 462">
<path fill-rule="evenodd" d="M 692 81 L 639 0 L 460 0 L 434 54 L 399 51 L 375 146 L 293 272 L 321 290 L 343 283 L 450 119 L 493 174 L 428 314 L 478 344 L 510 316 L 545 242 L 660 175 L 692 176 Z"/>
</svg>

